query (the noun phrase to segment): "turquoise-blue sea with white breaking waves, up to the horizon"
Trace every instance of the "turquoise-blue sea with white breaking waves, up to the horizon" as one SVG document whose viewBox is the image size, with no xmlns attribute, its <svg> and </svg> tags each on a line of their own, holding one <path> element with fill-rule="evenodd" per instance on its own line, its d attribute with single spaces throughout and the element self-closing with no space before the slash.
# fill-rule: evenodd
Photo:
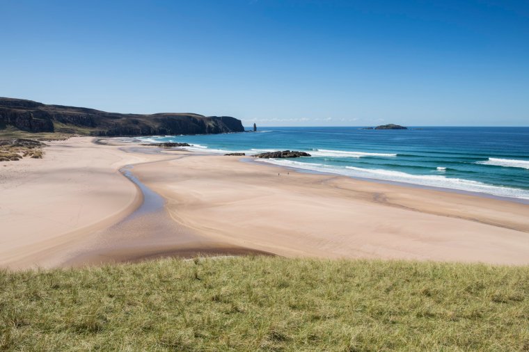
<svg viewBox="0 0 529 352">
<path fill-rule="evenodd" d="M 261 162 L 350 177 L 529 200 L 529 127 L 266 127 L 257 133 L 152 136 L 200 152 L 303 150 L 312 157 Z"/>
</svg>

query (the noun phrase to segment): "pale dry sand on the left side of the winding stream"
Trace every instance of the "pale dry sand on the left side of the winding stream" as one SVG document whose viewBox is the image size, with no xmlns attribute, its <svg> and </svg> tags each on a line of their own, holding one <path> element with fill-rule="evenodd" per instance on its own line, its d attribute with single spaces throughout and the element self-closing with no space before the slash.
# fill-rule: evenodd
<svg viewBox="0 0 529 352">
<path fill-rule="evenodd" d="M 80 245 L 141 203 L 141 193 L 118 169 L 167 158 L 93 141 L 49 142 L 44 159 L 0 162 L 0 266 L 61 264 L 70 255 L 64 246 Z"/>
</svg>

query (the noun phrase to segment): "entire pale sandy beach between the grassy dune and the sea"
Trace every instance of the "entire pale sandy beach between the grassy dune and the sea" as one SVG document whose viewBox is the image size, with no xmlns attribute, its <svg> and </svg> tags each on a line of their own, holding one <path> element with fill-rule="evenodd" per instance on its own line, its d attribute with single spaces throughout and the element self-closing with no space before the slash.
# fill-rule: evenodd
<svg viewBox="0 0 529 352">
<path fill-rule="evenodd" d="M 0 163 L 0 266 L 97 264 L 221 248 L 529 264 L 528 205 L 299 173 L 240 157 L 93 142 L 52 142 L 44 159 Z M 127 165 L 163 198 L 156 214 L 129 218 L 143 196 L 120 173 Z M 156 230 L 150 222 L 161 225 Z"/>
</svg>

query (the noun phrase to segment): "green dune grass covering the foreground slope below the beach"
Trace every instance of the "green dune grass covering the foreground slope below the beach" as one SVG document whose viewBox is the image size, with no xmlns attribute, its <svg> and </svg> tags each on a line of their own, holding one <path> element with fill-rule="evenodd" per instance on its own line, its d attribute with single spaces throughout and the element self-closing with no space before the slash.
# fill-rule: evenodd
<svg viewBox="0 0 529 352">
<path fill-rule="evenodd" d="M 529 267 L 237 257 L 0 273 L 0 349 L 529 351 Z"/>
</svg>

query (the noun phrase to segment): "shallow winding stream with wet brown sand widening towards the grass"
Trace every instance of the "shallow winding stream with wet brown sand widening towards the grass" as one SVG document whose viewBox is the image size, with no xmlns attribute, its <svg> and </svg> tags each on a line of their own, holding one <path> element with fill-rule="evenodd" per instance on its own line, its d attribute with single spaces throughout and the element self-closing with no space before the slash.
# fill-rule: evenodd
<svg viewBox="0 0 529 352">
<path fill-rule="evenodd" d="M 94 234 L 95 241 L 68 259 L 64 266 L 139 262 L 158 257 L 268 254 L 211 241 L 176 223 L 164 208 L 164 198 L 145 186 L 132 169 L 126 166 L 120 172 L 143 194 L 140 207 L 123 221 Z"/>
</svg>

